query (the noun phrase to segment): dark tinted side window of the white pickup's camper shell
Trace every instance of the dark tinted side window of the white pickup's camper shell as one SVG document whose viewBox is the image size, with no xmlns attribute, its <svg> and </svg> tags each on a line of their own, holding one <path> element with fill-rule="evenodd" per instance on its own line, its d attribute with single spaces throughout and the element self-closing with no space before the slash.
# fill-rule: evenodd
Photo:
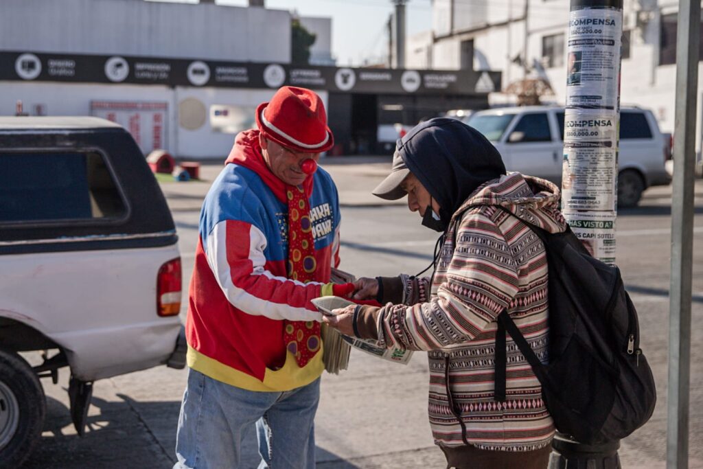
<svg viewBox="0 0 703 469">
<path fill-rule="evenodd" d="M 120 219 L 127 205 L 98 153 L 0 153 L 0 223 Z"/>
</svg>

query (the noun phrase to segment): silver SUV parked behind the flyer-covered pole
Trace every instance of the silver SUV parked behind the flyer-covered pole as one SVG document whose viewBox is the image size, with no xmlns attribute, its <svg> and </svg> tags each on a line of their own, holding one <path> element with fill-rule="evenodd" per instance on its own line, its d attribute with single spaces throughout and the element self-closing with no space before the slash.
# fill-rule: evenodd
<svg viewBox="0 0 703 469">
<path fill-rule="evenodd" d="M 564 108 L 527 106 L 478 111 L 467 124 L 481 131 L 503 155 L 505 167 L 560 185 Z M 650 186 L 671 183 L 664 167 L 669 145 L 650 110 L 621 108 L 618 205 L 636 206 Z"/>
</svg>

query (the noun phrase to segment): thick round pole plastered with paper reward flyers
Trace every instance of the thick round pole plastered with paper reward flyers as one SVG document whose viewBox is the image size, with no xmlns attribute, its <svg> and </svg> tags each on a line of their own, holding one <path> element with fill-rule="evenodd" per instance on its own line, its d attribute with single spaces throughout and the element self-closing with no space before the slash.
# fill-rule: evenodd
<svg viewBox="0 0 703 469">
<path fill-rule="evenodd" d="M 562 212 L 593 257 L 615 263 L 623 0 L 571 0 Z M 620 442 L 586 445 L 557 432 L 550 468 L 619 468 Z"/>
</svg>

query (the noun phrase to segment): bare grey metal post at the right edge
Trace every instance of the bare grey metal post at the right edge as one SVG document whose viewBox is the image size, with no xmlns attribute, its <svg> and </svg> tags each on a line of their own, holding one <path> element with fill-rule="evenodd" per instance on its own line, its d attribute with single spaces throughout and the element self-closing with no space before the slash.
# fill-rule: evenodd
<svg viewBox="0 0 703 469">
<path fill-rule="evenodd" d="M 693 195 L 698 93 L 700 1 L 678 3 L 676 116 L 671 194 L 671 284 L 669 287 L 669 399 L 666 468 L 688 468 L 691 366 L 691 274 Z"/>
</svg>

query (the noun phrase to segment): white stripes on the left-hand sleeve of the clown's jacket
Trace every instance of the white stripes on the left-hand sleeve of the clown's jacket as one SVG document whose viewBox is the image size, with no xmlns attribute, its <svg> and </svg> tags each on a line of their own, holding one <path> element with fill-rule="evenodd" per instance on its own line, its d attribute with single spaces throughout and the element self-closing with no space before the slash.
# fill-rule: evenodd
<svg viewBox="0 0 703 469">
<path fill-rule="evenodd" d="M 321 314 L 318 311 L 310 311 L 303 307 L 291 307 L 288 304 L 279 304 L 271 301 L 262 300 L 248 293 L 243 288 L 238 288 L 232 282 L 231 269 L 227 262 L 226 249 L 226 221 L 220 221 L 207 237 L 207 260 L 210 264 L 217 283 L 220 286 L 222 293 L 227 297 L 227 300 L 237 309 L 244 311 L 252 316 L 266 316 L 269 319 L 282 320 L 290 319 L 291 321 L 320 321 Z M 266 259 L 264 257 L 264 248 L 266 248 L 266 238 L 261 230 L 256 226 L 250 226 L 250 250 L 249 259 L 254 264 L 253 275 L 264 274 L 267 278 L 280 279 L 287 281 L 282 277 L 275 277 L 270 272 L 264 269 Z M 300 285 L 305 285 L 300 283 Z"/>
</svg>

